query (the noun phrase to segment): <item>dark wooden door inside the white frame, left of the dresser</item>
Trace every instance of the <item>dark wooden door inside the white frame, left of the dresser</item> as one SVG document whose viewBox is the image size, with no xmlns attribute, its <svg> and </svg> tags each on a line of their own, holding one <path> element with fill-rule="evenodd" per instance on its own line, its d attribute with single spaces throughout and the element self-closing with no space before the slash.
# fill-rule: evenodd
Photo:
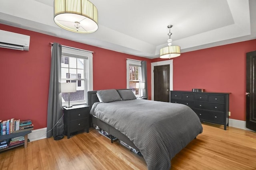
<svg viewBox="0 0 256 170">
<path fill-rule="evenodd" d="M 170 65 L 154 66 L 154 100 L 170 102 Z"/>
</svg>

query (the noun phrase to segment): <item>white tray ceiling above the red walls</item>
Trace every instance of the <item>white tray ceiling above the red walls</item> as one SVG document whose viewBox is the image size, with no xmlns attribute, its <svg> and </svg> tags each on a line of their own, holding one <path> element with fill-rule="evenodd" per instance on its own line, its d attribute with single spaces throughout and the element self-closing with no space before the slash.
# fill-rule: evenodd
<svg viewBox="0 0 256 170">
<path fill-rule="evenodd" d="M 167 46 L 181 52 L 256 39 L 256 0 L 90 0 L 99 29 L 78 34 L 53 20 L 54 0 L 0 0 L 0 23 L 150 59 Z"/>
</svg>

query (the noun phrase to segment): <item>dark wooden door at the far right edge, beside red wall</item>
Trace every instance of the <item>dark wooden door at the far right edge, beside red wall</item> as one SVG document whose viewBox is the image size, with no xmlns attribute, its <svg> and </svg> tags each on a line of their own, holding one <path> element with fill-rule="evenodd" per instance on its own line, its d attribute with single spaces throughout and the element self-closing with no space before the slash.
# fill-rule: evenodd
<svg viewBox="0 0 256 170">
<path fill-rule="evenodd" d="M 246 53 L 246 127 L 256 131 L 256 51 Z"/>
</svg>

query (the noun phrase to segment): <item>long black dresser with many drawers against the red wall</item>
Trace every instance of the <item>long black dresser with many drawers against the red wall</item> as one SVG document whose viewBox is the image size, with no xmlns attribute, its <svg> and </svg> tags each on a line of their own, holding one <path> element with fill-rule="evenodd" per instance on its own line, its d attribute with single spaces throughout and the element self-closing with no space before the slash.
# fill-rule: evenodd
<svg viewBox="0 0 256 170">
<path fill-rule="evenodd" d="M 200 121 L 228 126 L 229 94 L 220 92 L 171 91 L 171 103 L 189 106 Z"/>
</svg>

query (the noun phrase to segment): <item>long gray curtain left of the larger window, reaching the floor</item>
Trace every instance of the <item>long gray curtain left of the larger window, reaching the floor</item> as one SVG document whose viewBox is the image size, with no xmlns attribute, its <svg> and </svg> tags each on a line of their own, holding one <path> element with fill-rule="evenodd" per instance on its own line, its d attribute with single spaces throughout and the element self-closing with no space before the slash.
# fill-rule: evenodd
<svg viewBox="0 0 256 170">
<path fill-rule="evenodd" d="M 47 110 L 47 135 L 63 135 L 64 124 L 62 118 L 62 100 L 60 91 L 61 82 L 61 49 L 62 46 L 54 43 L 52 46 L 52 63 L 50 72 L 50 85 Z M 60 120 L 60 121 L 59 121 Z M 58 122 L 59 121 L 59 122 Z M 56 125 L 56 123 L 58 124 Z M 54 127 L 56 125 L 56 127 Z M 53 129 L 53 131 L 51 131 Z M 58 130 L 58 131 L 57 131 Z M 58 134 L 62 133 L 62 134 Z"/>
</svg>

